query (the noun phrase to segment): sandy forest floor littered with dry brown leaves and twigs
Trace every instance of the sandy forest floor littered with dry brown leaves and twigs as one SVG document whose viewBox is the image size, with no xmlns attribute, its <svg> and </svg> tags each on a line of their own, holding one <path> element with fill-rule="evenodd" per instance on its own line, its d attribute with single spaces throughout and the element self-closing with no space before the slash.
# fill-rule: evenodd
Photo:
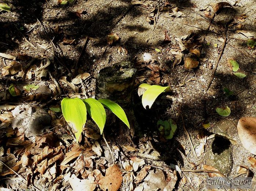
<svg viewBox="0 0 256 191">
<path fill-rule="evenodd" d="M 237 129 L 256 117 L 254 0 L 61 2 L 10 0 L 0 12 L 0 191 L 203 191 L 209 177 L 253 177 L 238 188 L 255 190 L 255 153 Z M 89 121 L 76 144 L 61 100 L 94 98 L 100 69 L 121 61 L 137 69 L 139 130 L 120 144 L 121 127 L 107 125 L 109 152 Z M 145 109 L 141 83 L 172 91 Z M 157 122 L 170 119 L 168 140 Z"/>
</svg>

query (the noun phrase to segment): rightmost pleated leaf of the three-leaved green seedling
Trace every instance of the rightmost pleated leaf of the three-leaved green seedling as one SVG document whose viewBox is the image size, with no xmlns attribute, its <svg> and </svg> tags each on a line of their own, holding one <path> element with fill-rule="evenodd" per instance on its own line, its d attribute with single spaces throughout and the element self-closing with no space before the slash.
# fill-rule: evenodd
<svg viewBox="0 0 256 191">
<path fill-rule="evenodd" d="M 98 101 L 102 103 L 103 106 L 112 111 L 130 129 L 130 124 L 128 122 L 127 116 L 125 115 L 124 110 L 117 103 L 109 99 L 99 99 Z"/>
</svg>

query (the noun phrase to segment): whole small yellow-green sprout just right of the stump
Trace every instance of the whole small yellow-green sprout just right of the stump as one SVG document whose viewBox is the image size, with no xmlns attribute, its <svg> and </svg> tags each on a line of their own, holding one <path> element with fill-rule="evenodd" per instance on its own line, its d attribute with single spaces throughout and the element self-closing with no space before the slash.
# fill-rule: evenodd
<svg viewBox="0 0 256 191">
<path fill-rule="evenodd" d="M 145 89 L 145 91 L 142 91 Z M 162 87 L 160 85 L 140 84 L 138 89 L 139 96 L 142 95 L 142 105 L 146 109 L 147 106 L 151 108 L 157 97 L 162 93 L 169 91 L 169 86 Z"/>
</svg>

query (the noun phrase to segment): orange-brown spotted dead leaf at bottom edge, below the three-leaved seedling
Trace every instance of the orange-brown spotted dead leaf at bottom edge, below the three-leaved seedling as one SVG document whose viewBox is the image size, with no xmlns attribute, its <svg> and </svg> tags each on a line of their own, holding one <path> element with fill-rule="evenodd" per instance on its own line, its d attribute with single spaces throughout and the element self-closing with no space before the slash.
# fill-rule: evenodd
<svg viewBox="0 0 256 191">
<path fill-rule="evenodd" d="M 100 179 L 98 184 L 102 190 L 117 191 L 122 184 L 122 172 L 118 165 L 107 168 L 106 176 Z"/>
</svg>

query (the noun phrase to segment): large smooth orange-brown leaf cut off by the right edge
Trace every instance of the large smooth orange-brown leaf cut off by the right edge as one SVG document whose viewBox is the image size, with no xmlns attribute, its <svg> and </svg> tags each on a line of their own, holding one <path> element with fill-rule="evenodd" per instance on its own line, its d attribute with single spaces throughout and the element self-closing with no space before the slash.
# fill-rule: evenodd
<svg viewBox="0 0 256 191">
<path fill-rule="evenodd" d="M 256 154 L 256 118 L 244 117 L 239 119 L 237 131 L 244 148 L 250 153 Z"/>
</svg>

